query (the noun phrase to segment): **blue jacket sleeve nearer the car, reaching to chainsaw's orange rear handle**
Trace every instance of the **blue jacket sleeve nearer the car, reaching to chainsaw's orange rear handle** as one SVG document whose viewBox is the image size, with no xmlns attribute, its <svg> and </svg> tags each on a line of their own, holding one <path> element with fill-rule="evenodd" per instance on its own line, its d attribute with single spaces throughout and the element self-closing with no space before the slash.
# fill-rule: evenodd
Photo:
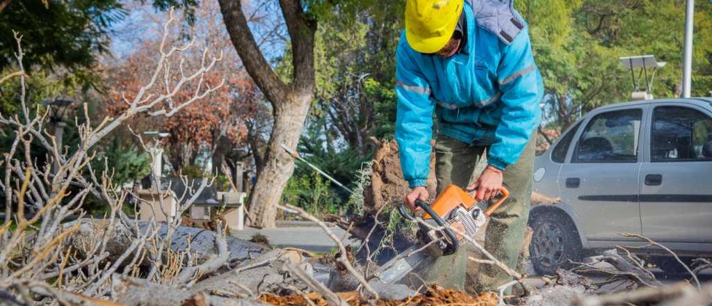
<svg viewBox="0 0 712 306">
<path fill-rule="evenodd" d="M 544 90 L 527 30 L 525 27 L 509 46 L 500 42 L 503 55 L 497 75 L 504 108 L 487 156 L 488 164 L 500 170 L 519 159 L 540 122 Z"/>
</svg>

